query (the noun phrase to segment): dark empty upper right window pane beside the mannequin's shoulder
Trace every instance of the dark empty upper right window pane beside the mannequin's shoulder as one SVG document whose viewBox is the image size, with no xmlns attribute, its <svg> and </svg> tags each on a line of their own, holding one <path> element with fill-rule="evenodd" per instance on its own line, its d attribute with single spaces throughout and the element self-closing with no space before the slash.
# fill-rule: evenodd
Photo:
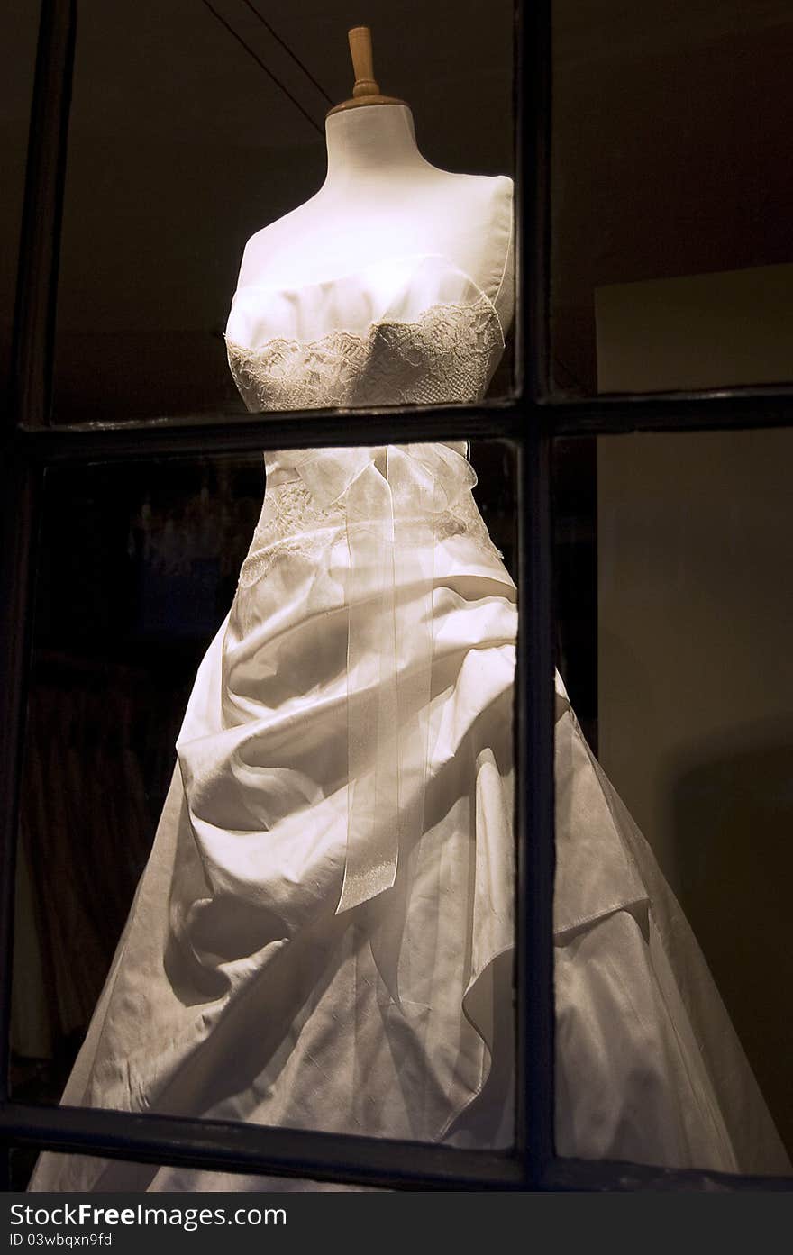
<svg viewBox="0 0 793 1255">
<path fill-rule="evenodd" d="M 553 3 L 552 383 L 789 382 L 793 15 Z"/>
</svg>

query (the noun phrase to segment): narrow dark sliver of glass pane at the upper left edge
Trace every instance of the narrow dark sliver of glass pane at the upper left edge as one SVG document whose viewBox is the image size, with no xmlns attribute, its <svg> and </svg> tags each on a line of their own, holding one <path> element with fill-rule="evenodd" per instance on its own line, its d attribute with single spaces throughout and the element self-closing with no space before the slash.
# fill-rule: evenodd
<svg viewBox="0 0 793 1255">
<path fill-rule="evenodd" d="M 11 319 L 19 259 L 25 153 L 35 69 L 39 5 L 10 0 L 0 10 L 0 39 L 5 50 L 0 78 L 0 404 L 5 403 L 11 360 Z"/>
</svg>

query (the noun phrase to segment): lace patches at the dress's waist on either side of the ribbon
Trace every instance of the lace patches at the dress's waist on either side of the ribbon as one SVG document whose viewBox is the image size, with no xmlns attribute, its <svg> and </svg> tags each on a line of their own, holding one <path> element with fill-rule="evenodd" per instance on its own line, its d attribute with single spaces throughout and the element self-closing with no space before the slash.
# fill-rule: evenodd
<svg viewBox="0 0 793 1255">
<path fill-rule="evenodd" d="M 434 523 L 435 541 L 468 536 L 488 558 L 503 557 L 493 545 L 471 492 L 463 493 L 452 510 L 437 513 Z M 316 565 L 319 555 L 334 545 L 344 531 L 344 510 L 340 506 L 319 506 L 302 479 L 290 479 L 272 489 L 269 487 L 240 569 L 238 586 L 247 589 L 256 584 L 284 557 L 305 558 Z"/>
</svg>

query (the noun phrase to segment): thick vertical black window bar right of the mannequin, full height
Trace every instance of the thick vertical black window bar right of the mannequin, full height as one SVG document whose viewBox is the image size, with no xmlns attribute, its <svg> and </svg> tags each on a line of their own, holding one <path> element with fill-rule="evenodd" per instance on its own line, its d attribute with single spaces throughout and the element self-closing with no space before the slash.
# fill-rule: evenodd
<svg viewBox="0 0 793 1255">
<path fill-rule="evenodd" d="M 516 382 L 518 447 L 516 665 L 516 1098 L 524 1186 L 542 1188 L 553 1156 L 553 650 L 548 390 L 551 3 L 517 5 Z"/>
</svg>

